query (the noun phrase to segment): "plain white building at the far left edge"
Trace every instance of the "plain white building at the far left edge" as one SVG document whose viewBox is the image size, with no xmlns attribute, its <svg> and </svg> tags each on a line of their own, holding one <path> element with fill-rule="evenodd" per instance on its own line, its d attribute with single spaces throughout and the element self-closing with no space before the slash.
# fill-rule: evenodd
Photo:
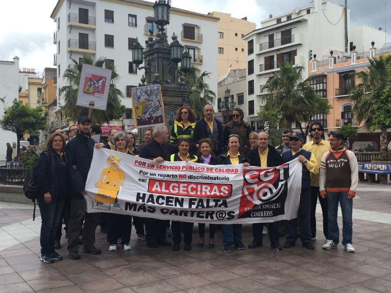
<svg viewBox="0 0 391 293">
<path fill-rule="evenodd" d="M 13 61 L 0 61 L 0 96 L 5 98 L 6 106 L 11 106 L 14 99 L 19 96 L 19 58 Z M 0 103 L 0 119 L 4 117 L 4 105 Z M 16 142 L 16 133 L 0 128 L 0 137 L 3 144 L 0 146 L 0 161 L 6 160 L 6 143 Z"/>
</svg>

